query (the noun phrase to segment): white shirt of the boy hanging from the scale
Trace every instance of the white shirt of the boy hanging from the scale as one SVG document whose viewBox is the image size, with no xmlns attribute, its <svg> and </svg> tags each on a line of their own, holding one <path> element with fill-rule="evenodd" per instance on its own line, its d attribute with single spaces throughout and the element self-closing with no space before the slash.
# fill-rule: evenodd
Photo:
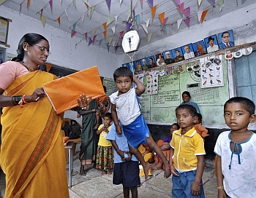
<svg viewBox="0 0 256 198">
<path fill-rule="evenodd" d="M 135 88 L 118 96 L 118 91 L 110 95 L 110 101 L 116 105 L 116 113 L 121 124 L 127 126 L 140 116 L 140 107 L 136 98 Z"/>
</svg>

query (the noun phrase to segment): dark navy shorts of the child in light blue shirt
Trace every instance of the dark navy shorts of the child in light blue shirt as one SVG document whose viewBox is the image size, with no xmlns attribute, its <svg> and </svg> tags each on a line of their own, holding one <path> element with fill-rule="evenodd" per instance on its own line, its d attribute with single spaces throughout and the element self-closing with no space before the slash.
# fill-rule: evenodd
<svg viewBox="0 0 256 198">
<path fill-rule="evenodd" d="M 122 183 L 130 188 L 140 185 L 140 169 L 138 161 L 116 163 L 113 170 L 113 184 Z"/>
</svg>

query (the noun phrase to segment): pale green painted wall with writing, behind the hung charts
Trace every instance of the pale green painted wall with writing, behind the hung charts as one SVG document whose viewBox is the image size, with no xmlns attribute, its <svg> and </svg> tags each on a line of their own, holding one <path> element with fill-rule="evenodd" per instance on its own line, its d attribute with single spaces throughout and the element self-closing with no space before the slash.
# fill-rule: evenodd
<svg viewBox="0 0 256 198">
<path fill-rule="evenodd" d="M 227 60 L 225 58 L 221 59 L 223 72 L 223 85 L 221 87 L 201 88 L 202 74 L 200 66 L 205 60 L 197 60 L 172 68 L 156 68 L 159 75 L 157 78 L 157 94 L 154 95 L 147 94 L 148 90 L 152 90 L 152 87 L 148 87 L 147 78 L 144 76 L 143 84 L 146 91 L 140 96 L 140 105 L 146 122 L 150 124 L 172 124 L 176 122 L 175 109 L 183 101 L 182 92 L 188 91 L 192 101 L 196 102 L 200 108 L 204 125 L 224 125 L 223 106 L 229 98 L 229 92 Z M 139 75 L 141 78 L 141 73 Z M 113 79 L 104 80 L 108 91 L 116 91 Z"/>
</svg>

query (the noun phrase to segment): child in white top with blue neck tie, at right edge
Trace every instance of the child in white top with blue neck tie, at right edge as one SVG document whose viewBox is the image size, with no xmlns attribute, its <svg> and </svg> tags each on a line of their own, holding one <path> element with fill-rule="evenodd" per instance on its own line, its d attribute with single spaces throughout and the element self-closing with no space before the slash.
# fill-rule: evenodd
<svg viewBox="0 0 256 198">
<path fill-rule="evenodd" d="M 224 119 L 231 131 L 222 132 L 214 148 L 218 197 L 255 198 L 256 135 L 247 129 L 255 122 L 255 104 L 247 98 L 230 98 Z"/>
</svg>

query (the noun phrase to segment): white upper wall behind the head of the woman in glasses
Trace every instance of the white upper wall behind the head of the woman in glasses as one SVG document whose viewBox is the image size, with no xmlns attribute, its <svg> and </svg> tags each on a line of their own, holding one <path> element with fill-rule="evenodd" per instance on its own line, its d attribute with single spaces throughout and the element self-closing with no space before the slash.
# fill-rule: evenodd
<svg viewBox="0 0 256 198">
<path fill-rule="evenodd" d="M 10 48 L 7 48 L 7 53 L 17 55 L 18 42 L 24 34 L 39 33 L 50 42 L 52 54 L 48 57 L 48 63 L 75 70 L 83 70 L 97 65 L 100 76 L 113 78 L 113 71 L 118 68 L 116 55 L 92 44 L 88 46 L 86 41 L 81 41 L 75 49 L 75 44 L 80 39 L 75 36 L 71 38 L 70 33 L 47 24 L 43 27 L 41 21 L 26 15 L 19 15 L 18 12 L 4 6 L 0 6 L 0 13 L 1 17 L 12 20 L 12 23 L 9 23 L 7 43 L 10 44 Z"/>
</svg>

